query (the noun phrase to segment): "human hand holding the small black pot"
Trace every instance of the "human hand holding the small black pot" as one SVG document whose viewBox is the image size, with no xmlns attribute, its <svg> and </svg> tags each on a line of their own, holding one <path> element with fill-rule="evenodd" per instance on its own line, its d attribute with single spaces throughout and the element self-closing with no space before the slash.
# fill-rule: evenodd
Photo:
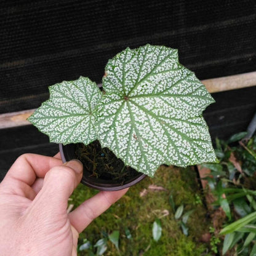
<svg viewBox="0 0 256 256">
<path fill-rule="evenodd" d="M 101 191 L 67 213 L 82 164 L 23 154 L 0 184 L 0 255 L 77 255 L 78 235 L 126 190 Z"/>
</svg>

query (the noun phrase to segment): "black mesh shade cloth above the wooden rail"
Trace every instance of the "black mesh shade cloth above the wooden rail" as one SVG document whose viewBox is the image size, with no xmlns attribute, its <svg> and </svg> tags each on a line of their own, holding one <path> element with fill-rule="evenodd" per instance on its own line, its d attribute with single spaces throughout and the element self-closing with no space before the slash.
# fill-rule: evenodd
<svg viewBox="0 0 256 256">
<path fill-rule="evenodd" d="M 56 82 L 100 82 L 108 59 L 127 46 L 177 48 L 199 79 L 254 71 L 255 3 L 1 1 L 0 113 L 37 108 Z"/>
</svg>

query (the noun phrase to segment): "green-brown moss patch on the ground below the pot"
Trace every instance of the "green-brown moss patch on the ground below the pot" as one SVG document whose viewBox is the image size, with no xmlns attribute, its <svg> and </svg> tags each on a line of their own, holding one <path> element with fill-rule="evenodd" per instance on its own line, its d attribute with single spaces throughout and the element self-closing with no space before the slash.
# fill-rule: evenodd
<svg viewBox="0 0 256 256">
<path fill-rule="evenodd" d="M 148 190 L 149 185 L 162 186 L 164 190 Z M 140 192 L 147 189 L 145 196 Z M 78 206 L 85 199 L 93 196 L 97 191 L 84 185 L 79 185 L 74 191 L 71 203 Z M 185 236 L 180 225 L 174 218 L 170 206 L 169 196 L 172 194 L 175 206 L 184 204 L 184 212 L 194 209 L 188 220 L 189 235 Z M 164 214 L 169 213 L 162 217 Z M 156 218 L 161 218 L 162 236 L 158 242 L 153 241 L 152 225 Z M 129 228 L 132 239 L 125 236 L 125 228 Z M 201 203 L 201 192 L 196 181 L 196 173 L 191 168 L 176 169 L 173 167 L 159 167 L 154 178 L 145 178 L 142 182 L 132 186 L 127 194 L 104 214 L 92 222 L 79 237 L 87 238 L 92 244 L 103 238 L 102 232 L 120 231 L 120 254 L 111 242 L 104 255 L 175 255 L 198 256 L 210 255 L 207 244 L 200 242 L 202 234 L 209 230 L 206 219 L 206 209 Z M 88 255 L 86 250 L 78 255 Z"/>
</svg>

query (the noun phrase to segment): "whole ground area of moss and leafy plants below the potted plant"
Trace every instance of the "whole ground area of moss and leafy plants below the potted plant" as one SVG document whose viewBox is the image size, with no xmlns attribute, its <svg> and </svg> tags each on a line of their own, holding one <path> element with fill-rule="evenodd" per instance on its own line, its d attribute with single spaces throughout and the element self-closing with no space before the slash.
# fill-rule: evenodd
<svg viewBox="0 0 256 256">
<path fill-rule="evenodd" d="M 100 248 L 103 255 L 254 255 L 256 137 L 239 145 L 245 134 L 217 138 L 220 163 L 206 165 L 214 209 L 204 205 L 194 169 L 161 166 L 82 233 L 78 254 L 100 255 Z M 94 193 L 79 186 L 70 203 L 77 206 Z M 118 247 L 109 238 L 114 231 Z"/>
</svg>

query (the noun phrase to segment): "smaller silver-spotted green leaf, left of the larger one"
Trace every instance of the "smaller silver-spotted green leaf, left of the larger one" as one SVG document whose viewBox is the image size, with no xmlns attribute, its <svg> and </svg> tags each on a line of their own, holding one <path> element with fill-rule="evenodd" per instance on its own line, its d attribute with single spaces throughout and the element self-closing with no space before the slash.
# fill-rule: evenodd
<svg viewBox="0 0 256 256">
<path fill-rule="evenodd" d="M 97 139 L 95 111 L 102 92 L 95 82 L 82 76 L 49 87 L 50 98 L 28 118 L 50 137 L 50 142 L 84 143 Z"/>
</svg>

